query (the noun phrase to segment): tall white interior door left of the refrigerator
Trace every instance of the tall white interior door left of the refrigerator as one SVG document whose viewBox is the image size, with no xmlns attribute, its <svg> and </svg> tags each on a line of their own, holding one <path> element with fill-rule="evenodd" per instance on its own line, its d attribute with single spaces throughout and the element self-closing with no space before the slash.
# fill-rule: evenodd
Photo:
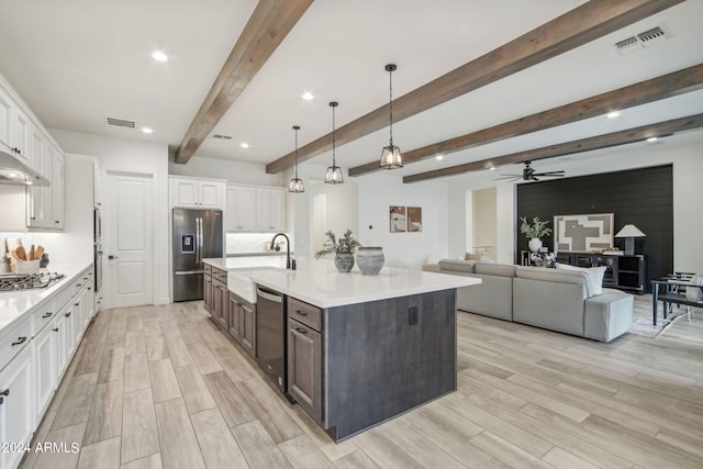
<svg viewBox="0 0 703 469">
<path fill-rule="evenodd" d="M 108 170 L 103 214 L 107 308 L 154 303 L 154 178 Z M 107 216 L 105 216 L 107 215 Z"/>
</svg>

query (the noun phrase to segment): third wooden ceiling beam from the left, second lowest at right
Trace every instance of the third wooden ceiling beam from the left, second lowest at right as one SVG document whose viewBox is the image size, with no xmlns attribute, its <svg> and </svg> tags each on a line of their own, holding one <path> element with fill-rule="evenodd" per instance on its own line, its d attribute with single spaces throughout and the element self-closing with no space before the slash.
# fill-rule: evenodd
<svg viewBox="0 0 703 469">
<path fill-rule="evenodd" d="M 603 115 L 635 105 L 646 104 L 665 98 L 703 88 L 703 64 L 640 81 L 614 91 L 582 99 L 511 122 L 494 125 L 466 135 L 438 142 L 403 154 L 405 165 L 436 155 L 445 157 L 455 152 L 511 138 L 558 125 L 570 124 L 583 119 Z M 360 176 L 378 169 L 378 163 L 369 163 L 349 169 L 349 176 Z"/>
</svg>

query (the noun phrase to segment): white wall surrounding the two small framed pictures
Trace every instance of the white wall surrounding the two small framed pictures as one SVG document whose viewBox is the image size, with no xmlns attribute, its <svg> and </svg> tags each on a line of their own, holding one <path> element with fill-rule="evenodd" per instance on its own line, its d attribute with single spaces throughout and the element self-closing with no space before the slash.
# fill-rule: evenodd
<svg viewBox="0 0 703 469">
<path fill-rule="evenodd" d="M 387 266 L 420 269 L 428 257 L 446 257 L 450 233 L 447 206 L 453 202 L 445 182 L 404 185 L 400 176 L 387 171 L 354 181 L 359 187 L 359 241 L 383 247 Z M 421 206 L 422 232 L 390 233 L 391 205 Z"/>
</svg>

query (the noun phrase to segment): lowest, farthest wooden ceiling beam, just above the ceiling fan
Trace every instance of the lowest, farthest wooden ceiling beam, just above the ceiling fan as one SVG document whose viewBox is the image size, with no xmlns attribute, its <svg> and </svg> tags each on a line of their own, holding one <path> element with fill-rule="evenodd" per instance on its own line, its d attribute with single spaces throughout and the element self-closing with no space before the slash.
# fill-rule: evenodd
<svg viewBox="0 0 703 469">
<path fill-rule="evenodd" d="M 571 141 L 542 148 L 517 152 L 510 155 L 498 156 L 495 158 L 471 161 L 465 165 L 451 166 L 449 168 L 436 169 L 417 175 L 405 176 L 403 182 L 419 182 L 427 179 L 456 176 L 462 172 L 480 171 L 498 168 L 500 166 L 535 161 L 538 159 L 554 158 L 563 155 L 591 152 L 594 149 L 610 148 L 618 145 L 626 145 L 635 142 L 643 142 L 649 137 L 662 137 L 673 135 L 679 132 L 691 131 L 703 127 L 703 114 L 689 115 L 687 118 L 673 119 L 658 122 L 656 124 L 641 125 L 635 129 L 598 135 L 590 138 Z"/>
</svg>

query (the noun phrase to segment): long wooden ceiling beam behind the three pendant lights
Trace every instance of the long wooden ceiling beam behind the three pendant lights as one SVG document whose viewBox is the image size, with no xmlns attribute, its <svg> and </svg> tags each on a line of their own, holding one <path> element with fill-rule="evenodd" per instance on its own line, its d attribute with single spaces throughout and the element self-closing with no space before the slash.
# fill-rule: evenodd
<svg viewBox="0 0 703 469">
<path fill-rule="evenodd" d="M 419 114 L 663 11 L 682 1 L 620 0 L 613 2 L 612 0 L 591 0 L 507 44 L 394 99 L 393 121 L 402 121 Z M 388 104 L 386 104 L 337 129 L 337 145 L 347 144 L 386 127 L 388 125 Z M 331 147 L 332 134 L 324 135 L 298 149 L 298 163 L 321 155 Z M 294 158 L 294 152 L 289 153 L 269 163 L 266 166 L 266 172 L 275 174 L 291 167 Z M 371 164 L 369 164 L 369 170 L 371 170 Z M 373 169 L 379 169 L 378 164 Z"/>
</svg>

